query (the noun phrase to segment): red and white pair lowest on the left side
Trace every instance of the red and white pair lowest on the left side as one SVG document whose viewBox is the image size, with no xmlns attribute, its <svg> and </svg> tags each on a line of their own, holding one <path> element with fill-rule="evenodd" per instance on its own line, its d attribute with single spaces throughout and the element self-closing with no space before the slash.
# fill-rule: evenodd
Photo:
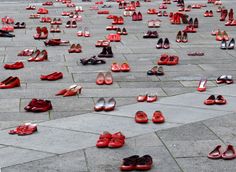
<svg viewBox="0 0 236 172">
<path fill-rule="evenodd" d="M 17 134 L 18 136 L 25 136 L 33 134 L 38 131 L 37 124 L 25 123 L 18 127 L 15 130 L 10 130 L 9 134 Z"/>
</svg>

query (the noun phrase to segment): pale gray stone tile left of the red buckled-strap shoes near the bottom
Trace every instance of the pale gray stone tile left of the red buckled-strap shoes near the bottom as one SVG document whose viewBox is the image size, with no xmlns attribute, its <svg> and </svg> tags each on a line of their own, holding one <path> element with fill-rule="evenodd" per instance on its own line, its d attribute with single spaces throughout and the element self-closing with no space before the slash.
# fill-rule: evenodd
<svg viewBox="0 0 236 172">
<path fill-rule="evenodd" d="M 97 135 L 94 134 L 42 126 L 38 127 L 37 133 L 29 136 L 9 135 L 5 130 L 1 131 L 0 135 L 0 144 L 17 145 L 17 147 L 21 148 L 57 154 L 93 146 L 97 139 Z M 81 140 L 81 138 L 83 139 Z"/>
</svg>

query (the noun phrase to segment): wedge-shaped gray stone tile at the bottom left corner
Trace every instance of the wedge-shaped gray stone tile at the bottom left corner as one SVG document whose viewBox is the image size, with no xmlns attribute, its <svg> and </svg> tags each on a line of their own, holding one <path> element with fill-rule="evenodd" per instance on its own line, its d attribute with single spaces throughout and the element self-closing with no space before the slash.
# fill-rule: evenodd
<svg viewBox="0 0 236 172">
<path fill-rule="evenodd" d="M 37 152 L 33 150 L 19 149 L 14 147 L 1 148 L 0 155 L 0 168 L 53 156 L 53 154 L 50 153 Z"/>
</svg>

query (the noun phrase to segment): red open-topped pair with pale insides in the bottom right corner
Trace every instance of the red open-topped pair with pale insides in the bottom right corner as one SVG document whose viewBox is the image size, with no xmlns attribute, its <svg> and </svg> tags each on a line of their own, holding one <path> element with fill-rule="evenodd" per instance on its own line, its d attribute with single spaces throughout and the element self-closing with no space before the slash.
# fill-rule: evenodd
<svg viewBox="0 0 236 172">
<path fill-rule="evenodd" d="M 223 152 L 221 150 L 221 145 L 217 145 L 213 151 L 208 154 L 210 159 L 224 159 L 231 160 L 236 158 L 236 150 L 233 145 L 228 145 L 226 150 Z"/>
</svg>

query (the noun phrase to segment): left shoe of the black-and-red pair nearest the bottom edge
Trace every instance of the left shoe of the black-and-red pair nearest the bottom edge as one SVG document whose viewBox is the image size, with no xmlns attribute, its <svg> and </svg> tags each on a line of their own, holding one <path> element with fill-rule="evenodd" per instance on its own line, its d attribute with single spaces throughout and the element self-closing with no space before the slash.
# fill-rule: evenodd
<svg viewBox="0 0 236 172">
<path fill-rule="evenodd" d="M 137 159 L 139 158 L 138 155 L 133 155 L 123 159 L 123 163 L 120 166 L 121 171 L 131 171 L 136 169 Z"/>
</svg>

